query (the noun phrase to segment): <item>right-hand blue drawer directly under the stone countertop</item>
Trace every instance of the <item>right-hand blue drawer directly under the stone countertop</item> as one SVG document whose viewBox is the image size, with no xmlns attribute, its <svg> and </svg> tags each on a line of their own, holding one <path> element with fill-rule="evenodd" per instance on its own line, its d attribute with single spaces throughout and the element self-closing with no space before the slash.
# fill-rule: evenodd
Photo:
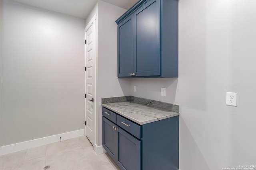
<svg viewBox="0 0 256 170">
<path fill-rule="evenodd" d="M 140 125 L 137 125 L 136 123 L 133 123 L 132 121 L 120 115 L 116 115 L 116 124 L 119 127 L 122 127 L 122 129 L 126 130 L 127 132 L 131 133 L 132 135 L 140 139 Z"/>
</svg>

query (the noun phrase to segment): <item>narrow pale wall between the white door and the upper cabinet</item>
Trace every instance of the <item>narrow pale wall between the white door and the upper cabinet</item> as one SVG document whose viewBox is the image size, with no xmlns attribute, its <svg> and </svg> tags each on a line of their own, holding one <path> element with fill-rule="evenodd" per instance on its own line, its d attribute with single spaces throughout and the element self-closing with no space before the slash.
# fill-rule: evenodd
<svg viewBox="0 0 256 170">
<path fill-rule="evenodd" d="M 130 79 L 117 78 L 117 25 L 125 9 L 98 0 L 96 144 L 102 145 L 101 98 L 130 95 Z"/>
</svg>

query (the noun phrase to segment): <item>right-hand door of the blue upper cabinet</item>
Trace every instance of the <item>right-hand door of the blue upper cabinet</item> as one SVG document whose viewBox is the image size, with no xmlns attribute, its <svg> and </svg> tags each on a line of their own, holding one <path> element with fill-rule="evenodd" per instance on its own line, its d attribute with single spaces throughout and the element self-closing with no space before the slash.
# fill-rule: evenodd
<svg viewBox="0 0 256 170">
<path fill-rule="evenodd" d="M 149 0 L 134 12 L 134 72 L 160 76 L 160 0 Z"/>
</svg>

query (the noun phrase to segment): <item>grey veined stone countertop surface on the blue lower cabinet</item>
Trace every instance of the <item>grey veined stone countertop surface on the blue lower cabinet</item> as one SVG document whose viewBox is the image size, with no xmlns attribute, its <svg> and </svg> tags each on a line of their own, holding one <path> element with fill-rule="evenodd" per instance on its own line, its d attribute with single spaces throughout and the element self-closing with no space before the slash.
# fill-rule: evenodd
<svg viewBox="0 0 256 170">
<path fill-rule="evenodd" d="M 139 125 L 179 115 L 177 112 L 163 111 L 133 102 L 107 103 L 102 104 L 102 106 L 138 123 Z"/>
</svg>

